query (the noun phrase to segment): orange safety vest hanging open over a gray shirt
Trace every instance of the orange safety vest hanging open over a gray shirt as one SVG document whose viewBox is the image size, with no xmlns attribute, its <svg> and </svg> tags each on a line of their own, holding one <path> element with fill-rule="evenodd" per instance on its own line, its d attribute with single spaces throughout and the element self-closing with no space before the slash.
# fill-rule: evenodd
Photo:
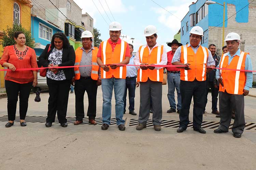
<svg viewBox="0 0 256 170">
<path fill-rule="evenodd" d="M 98 53 L 98 48 L 94 47 L 94 49 L 92 50 L 92 56 L 91 56 L 91 79 L 93 80 L 98 80 L 99 75 L 98 75 L 98 71 L 99 71 L 99 65 L 97 64 L 97 53 Z M 80 62 L 82 60 L 82 54 L 83 54 L 83 50 L 82 48 L 77 48 L 75 50 L 75 66 L 80 66 Z M 80 79 L 80 71 L 79 71 L 79 67 L 74 67 L 75 70 L 75 80 L 79 80 Z"/>
</svg>

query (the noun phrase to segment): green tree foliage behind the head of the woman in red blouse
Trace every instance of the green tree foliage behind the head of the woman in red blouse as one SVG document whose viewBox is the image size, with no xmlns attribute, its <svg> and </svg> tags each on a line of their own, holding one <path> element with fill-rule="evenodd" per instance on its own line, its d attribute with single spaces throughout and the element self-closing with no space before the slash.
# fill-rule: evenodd
<svg viewBox="0 0 256 170">
<path fill-rule="evenodd" d="M 31 48 L 35 47 L 34 39 L 31 37 L 31 31 L 28 31 L 25 28 L 23 28 L 21 24 L 14 23 L 13 27 L 7 26 L 7 29 L 3 30 L 4 36 L 3 36 L 3 40 L 0 42 L 0 45 L 2 45 L 3 48 L 5 46 L 11 46 L 16 44 L 14 40 L 14 33 L 16 31 L 24 32 L 26 37 L 26 46 Z"/>
</svg>

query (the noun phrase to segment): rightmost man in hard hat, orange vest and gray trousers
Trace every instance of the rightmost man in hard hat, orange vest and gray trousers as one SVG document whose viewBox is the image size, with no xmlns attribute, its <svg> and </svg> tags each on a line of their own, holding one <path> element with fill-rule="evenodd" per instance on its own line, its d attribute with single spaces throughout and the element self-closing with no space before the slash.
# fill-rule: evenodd
<svg viewBox="0 0 256 170">
<path fill-rule="evenodd" d="M 250 56 L 239 49 L 241 39 L 237 33 L 229 33 L 225 39 L 228 51 L 223 54 L 216 71 L 219 81 L 219 112 L 221 120 L 214 133 L 228 132 L 231 112 L 234 110 L 235 118 L 232 126 L 233 136 L 240 138 L 245 127 L 244 96 L 252 88 L 253 73 Z M 233 70 L 227 70 L 233 69 Z"/>
</svg>

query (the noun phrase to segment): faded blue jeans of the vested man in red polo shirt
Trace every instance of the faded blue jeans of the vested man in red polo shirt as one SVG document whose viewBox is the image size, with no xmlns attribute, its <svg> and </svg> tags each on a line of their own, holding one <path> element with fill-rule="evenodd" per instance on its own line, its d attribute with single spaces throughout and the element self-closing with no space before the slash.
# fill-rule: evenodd
<svg viewBox="0 0 256 170">
<path fill-rule="evenodd" d="M 123 120 L 124 115 L 124 92 L 125 92 L 125 79 L 102 79 L 101 80 L 103 106 L 102 106 L 102 123 L 110 125 L 111 118 L 111 99 L 114 88 L 115 94 L 115 111 L 116 111 L 116 124 L 125 124 Z"/>
</svg>

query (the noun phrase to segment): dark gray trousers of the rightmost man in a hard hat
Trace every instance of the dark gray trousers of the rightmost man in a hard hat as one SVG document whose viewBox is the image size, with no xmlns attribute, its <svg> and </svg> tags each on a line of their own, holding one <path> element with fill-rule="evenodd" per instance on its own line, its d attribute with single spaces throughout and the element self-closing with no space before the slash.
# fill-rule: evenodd
<svg viewBox="0 0 256 170">
<path fill-rule="evenodd" d="M 219 129 L 223 131 L 228 131 L 232 108 L 236 115 L 234 119 L 234 124 L 232 127 L 233 133 L 243 133 L 245 127 L 244 120 L 244 96 L 243 95 L 233 95 L 225 92 L 219 92 L 219 113 L 221 120 L 219 122 Z"/>
</svg>

